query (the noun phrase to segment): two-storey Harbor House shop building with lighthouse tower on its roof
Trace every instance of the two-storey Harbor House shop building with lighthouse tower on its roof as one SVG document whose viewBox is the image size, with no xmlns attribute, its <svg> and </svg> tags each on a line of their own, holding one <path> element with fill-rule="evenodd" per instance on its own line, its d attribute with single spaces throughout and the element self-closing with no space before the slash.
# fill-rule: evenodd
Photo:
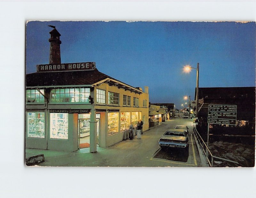
<svg viewBox="0 0 256 198">
<path fill-rule="evenodd" d="M 95 62 L 61 63 L 60 33 L 50 34 L 50 63 L 26 75 L 26 148 L 96 152 L 127 139 L 140 119 L 148 129 L 147 86 L 105 75 Z"/>
</svg>

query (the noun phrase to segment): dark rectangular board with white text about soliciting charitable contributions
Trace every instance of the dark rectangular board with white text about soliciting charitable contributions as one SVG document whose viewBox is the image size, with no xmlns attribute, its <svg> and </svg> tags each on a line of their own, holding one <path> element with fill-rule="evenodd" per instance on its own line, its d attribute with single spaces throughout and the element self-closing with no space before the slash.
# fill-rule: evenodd
<svg viewBox="0 0 256 198">
<path fill-rule="evenodd" d="M 236 105 L 208 105 L 208 124 L 236 125 Z"/>
</svg>

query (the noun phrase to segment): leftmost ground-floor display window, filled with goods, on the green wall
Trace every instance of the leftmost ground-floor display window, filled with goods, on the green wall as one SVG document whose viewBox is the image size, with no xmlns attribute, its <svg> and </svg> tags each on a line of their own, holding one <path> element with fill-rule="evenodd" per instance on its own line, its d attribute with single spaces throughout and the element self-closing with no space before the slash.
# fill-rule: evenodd
<svg viewBox="0 0 256 198">
<path fill-rule="evenodd" d="M 28 137 L 44 138 L 44 113 L 28 112 Z"/>
</svg>

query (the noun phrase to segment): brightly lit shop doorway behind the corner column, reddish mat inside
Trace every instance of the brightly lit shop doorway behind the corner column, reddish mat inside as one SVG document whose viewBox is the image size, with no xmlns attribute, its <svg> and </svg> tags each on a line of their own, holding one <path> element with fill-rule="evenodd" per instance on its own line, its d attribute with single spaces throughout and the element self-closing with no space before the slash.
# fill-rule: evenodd
<svg viewBox="0 0 256 198">
<path fill-rule="evenodd" d="M 78 114 L 78 145 L 79 149 L 90 147 L 90 121 L 91 114 Z M 100 114 L 96 114 L 97 144 L 100 143 Z"/>
</svg>

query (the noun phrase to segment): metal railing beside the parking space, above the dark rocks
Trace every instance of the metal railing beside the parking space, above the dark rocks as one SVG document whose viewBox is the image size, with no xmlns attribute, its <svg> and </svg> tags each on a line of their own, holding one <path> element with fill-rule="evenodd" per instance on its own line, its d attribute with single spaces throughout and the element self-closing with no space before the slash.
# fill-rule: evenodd
<svg viewBox="0 0 256 198">
<path fill-rule="evenodd" d="M 198 133 L 198 131 L 196 130 L 196 127 L 195 125 L 193 125 L 193 134 L 194 136 L 196 137 L 196 141 L 197 143 L 199 144 L 199 147 L 200 149 L 203 150 L 203 153 L 204 153 L 204 156 L 206 157 L 206 162 L 207 164 L 209 164 L 210 167 L 214 167 L 213 165 L 213 162 L 214 162 L 214 158 L 215 159 L 220 159 L 220 160 L 223 160 L 223 161 L 227 161 L 227 162 L 231 162 L 231 163 L 234 163 L 237 165 L 239 165 L 238 162 L 235 162 L 235 161 L 232 161 L 232 160 L 229 160 L 229 159 L 225 159 L 225 158 L 220 158 L 220 157 L 217 157 L 217 156 L 213 156 L 211 151 L 209 150 L 208 146 L 206 145 L 206 143 L 204 142 L 203 138 L 200 136 L 200 134 Z"/>
</svg>

